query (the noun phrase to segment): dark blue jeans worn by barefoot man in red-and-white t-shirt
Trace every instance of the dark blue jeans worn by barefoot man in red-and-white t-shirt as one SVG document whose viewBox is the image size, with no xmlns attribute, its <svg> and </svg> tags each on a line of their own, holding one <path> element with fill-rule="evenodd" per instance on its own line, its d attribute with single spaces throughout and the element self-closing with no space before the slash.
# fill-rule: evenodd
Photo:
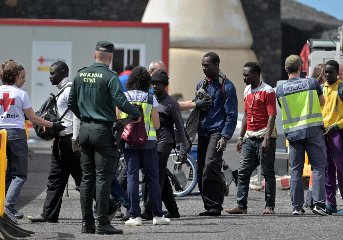
<svg viewBox="0 0 343 240">
<path fill-rule="evenodd" d="M 268 153 L 262 153 L 264 138 L 248 137 L 243 140 L 240 163 L 238 167 L 237 205 L 247 209 L 250 176 L 259 165 L 265 180 L 265 208 L 275 207 L 275 149 L 276 138 L 270 139 Z"/>
</svg>

